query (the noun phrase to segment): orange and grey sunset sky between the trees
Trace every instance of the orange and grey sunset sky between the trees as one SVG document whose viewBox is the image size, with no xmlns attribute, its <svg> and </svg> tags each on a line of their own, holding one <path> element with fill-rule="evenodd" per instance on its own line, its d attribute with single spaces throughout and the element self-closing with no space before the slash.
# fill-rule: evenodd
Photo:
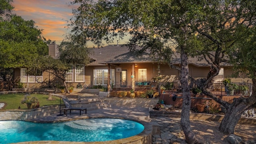
<svg viewBox="0 0 256 144">
<path fill-rule="evenodd" d="M 66 20 L 72 17 L 71 0 L 13 0 L 14 13 L 24 20 L 33 20 L 39 29 L 43 29 L 46 40 L 55 40 L 57 44 L 64 39 L 67 29 Z M 116 44 L 116 42 L 115 42 Z M 121 44 L 121 43 L 119 43 Z M 88 45 L 89 47 L 92 44 Z"/>
</svg>

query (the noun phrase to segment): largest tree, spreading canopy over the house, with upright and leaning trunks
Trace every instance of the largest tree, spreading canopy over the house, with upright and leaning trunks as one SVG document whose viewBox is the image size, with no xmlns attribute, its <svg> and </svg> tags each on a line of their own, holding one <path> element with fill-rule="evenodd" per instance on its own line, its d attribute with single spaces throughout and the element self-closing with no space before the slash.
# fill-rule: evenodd
<svg viewBox="0 0 256 144">
<path fill-rule="evenodd" d="M 180 82 L 183 90 L 181 126 L 190 144 L 197 142 L 189 121 L 190 93 L 188 79 L 191 79 L 208 96 L 227 108 L 220 131 L 234 133 L 234 126 L 241 115 L 236 112 L 236 104 L 228 104 L 213 95 L 208 84 L 220 71 L 220 64 L 228 62 L 226 54 L 238 42 L 239 27 L 253 26 L 255 22 L 254 3 L 233 0 L 92 0 L 74 1 L 80 4 L 73 11 L 72 32 L 75 37 L 92 40 L 98 46 L 102 40 L 112 42 L 113 38 L 125 34 L 131 50 L 135 45 L 142 47 L 152 55 L 162 58 L 170 67 L 180 71 Z M 172 53 L 175 48 L 180 52 L 181 66 L 172 64 Z M 211 69 L 204 82 L 196 81 L 188 75 L 188 56 L 205 59 Z M 246 105 L 246 106 L 245 106 Z M 240 113 L 239 113 L 240 114 Z M 233 122 L 228 119 L 232 115 Z M 231 116 L 230 116 L 231 117 Z M 232 125 L 227 123 L 232 122 Z M 225 125 L 226 124 L 226 125 Z M 232 127 L 232 128 L 230 128 Z M 232 130 L 233 129 L 233 130 Z"/>
</svg>

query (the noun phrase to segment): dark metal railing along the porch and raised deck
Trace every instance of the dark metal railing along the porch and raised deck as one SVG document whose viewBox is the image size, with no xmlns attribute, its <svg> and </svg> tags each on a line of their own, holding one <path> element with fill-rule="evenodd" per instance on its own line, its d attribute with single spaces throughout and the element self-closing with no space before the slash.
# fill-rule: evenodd
<svg viewBox="0 0 256 144">
<path fill-rule="evenodd" d="M 116 91 L 129 91 L 132 89 L 132 82 L 113 82 L 112 89 Z M 190 83 L 190 90 L 197 87 Z M 157 90 L 161 93 L 161 87 L 164 87 L 164 93 L 182 93 L 182 87 L 179 81 L 173 82 L 150 82 L 150 81 L 135 81 L 135 91 L 146 91 L 150 89 Z M 232 83 L 225 86 L 223 83 L 209 83 L 208 88 L 212 94 L 220 96 L 250 96 L 252 87 L 250 83 Z"/>
</svg>

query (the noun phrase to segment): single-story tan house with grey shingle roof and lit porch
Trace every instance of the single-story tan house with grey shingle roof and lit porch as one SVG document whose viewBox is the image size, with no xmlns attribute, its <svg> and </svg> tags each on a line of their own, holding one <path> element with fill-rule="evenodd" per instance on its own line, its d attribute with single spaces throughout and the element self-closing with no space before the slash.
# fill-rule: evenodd
<svg viewBox="0 0 256 144">
<path fill-rule="evenodd" d="M 120 90 L 139 90 L 151 88 L 154 79 L 160 77 L 160 82 L 173 82 L 179 79 L 179 72 L 165 64 L 158 64 L 149 54 L 138 57 L 130 52 L 124 45 L 108 45 L 101 48 L 93 48 L 92 62 L 88 66 L 72 66 L 67 72 L 66 82 L 68 85 L 92 88 L 94 86 L 107 86 Z M 58 56 L 58 45 L 49 44 L 49 55 Z M 180 64 L 179 53 L 174 54 L 173 64 Z M 194 78 L 206 78 L 210 65 L 205 60 L 189 58 L 189 74 Z M 109 72 L 109 73 L 108 73 Z M 224 78 L 232 74 L 230 64 L 222 64 L 220 74 L 214 78 L 214 82 L 222 82 Z M 108 75 L 109 74 L 109 75 Z M 46 88 L 46 84 L 36 82 L 35 76 L 26 74 L 26 68 L 16 68 L 14 78 L 24 83 L 24 88 Z M 44 72 L 42 76 L 36 76 L 40 81 L 58 83 L 60 80 L 51 74 Z M 232 78 L 232 82 L 250 83 L 249 78 Z"/>
</svg>

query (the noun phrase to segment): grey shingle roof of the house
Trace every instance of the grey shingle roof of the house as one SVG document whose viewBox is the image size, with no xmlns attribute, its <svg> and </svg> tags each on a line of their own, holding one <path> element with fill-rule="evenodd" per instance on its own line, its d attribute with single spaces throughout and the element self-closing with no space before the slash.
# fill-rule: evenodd
<svg viewBox="0 0 256 144">
<path fill-rule="evenodd" d="M 139 48 L 138 48 L 139 49 Z M 108 45 L 102 48 L 94 48 L 94 54 L 90 56 L 95 61 L 88 66 L 104 66 L 104 64 L 125 64 L 125 63 L 152 63 L 157 62 L 148 53 L 138 56 L 136 52 L 130 52 L 124 45 Z M 180 53 L 175 52 L 173 55 L 173 64 L 180 64 Z M 198 67 L 210 66 L 206 60 L 198 60 L 196 57 L 189 57 L 188 64 Z M 231 66 L 228 63 L 221 63 L 221 66 Z"/>
</svg>

